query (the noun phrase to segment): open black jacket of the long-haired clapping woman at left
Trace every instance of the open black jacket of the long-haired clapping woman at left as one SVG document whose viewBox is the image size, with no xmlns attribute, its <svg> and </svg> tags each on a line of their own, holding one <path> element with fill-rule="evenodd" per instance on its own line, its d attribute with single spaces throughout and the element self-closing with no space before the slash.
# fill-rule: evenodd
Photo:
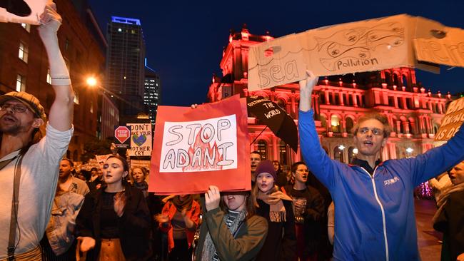
<svg viewBox="0 0 464 261">
<path fill-rule="evenodd" d="M 118 235 L 126 260 L 148 260 L 151 255 L 150 213 L 143 193 L 137 188 L 126 185 L 126 206 L 121 218 L 118 218 Z M 97 260 L 101 249 L 100 215 L 103 190 L 86 195 L 84 205 L 76 219 L 77 234 L 92 237 L 95 248 L 87 253 L 88 260 Z"/>
</svg>

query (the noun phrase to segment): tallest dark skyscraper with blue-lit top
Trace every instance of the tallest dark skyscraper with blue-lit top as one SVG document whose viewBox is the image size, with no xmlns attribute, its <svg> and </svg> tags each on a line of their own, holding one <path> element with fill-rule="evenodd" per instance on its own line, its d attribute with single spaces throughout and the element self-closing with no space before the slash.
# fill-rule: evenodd
<svg viewBox="0 0 464 261">
<path fill-rule="evenodd" d="M 112 16 L 106 32 L 106 88 L 119 110 L 121 124 L 146 113 L 143 105 L 145 42 L 140 20 Z"/>
</svg>

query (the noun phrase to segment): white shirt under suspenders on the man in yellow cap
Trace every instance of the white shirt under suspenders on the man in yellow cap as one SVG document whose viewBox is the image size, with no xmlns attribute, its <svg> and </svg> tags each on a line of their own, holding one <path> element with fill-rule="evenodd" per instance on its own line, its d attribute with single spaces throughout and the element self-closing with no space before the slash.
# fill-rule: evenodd
<svg viewBox="0 0 464 261">
<path fill-rule="evenodd" d="M 16 254 L 34 249 L 49 222 L 51 203 L 58 182 L 59 163 L 68 149 L 74 128 L 57 131 L 49 124 L 46 136 L 39 143 L 31 145 L 21 163 L 19 184 L 18 225 L 16 227 Z M 14 158 L 19 150 L 1 158 L 0 161 Z M 0 260 L 7 257 L 9 227 L 11 219 L 11 200 L 15 165 L 18 159 L 0 170 Z M 18 166 L 19 167 L 19 166 Z"/>
</svg>

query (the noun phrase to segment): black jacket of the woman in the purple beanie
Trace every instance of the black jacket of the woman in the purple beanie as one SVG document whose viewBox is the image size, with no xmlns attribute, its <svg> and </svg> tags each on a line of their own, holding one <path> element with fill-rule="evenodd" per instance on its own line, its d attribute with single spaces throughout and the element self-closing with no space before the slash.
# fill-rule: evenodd
<svg viewBox="0 0 464 261">
<path fill-rule="evenodd" d="M 269 219 L 269 205 L 263 200 L 257 200 L 257 202 L 259 208 L 256 208 L 256 214 L 261 215 L 268 221 L 268 236 L 256 260 L 295 260 L 296 233 L 292 202 L 282 200 L 287 213 L 286 222 L 271 222 Z"/>
</svg>

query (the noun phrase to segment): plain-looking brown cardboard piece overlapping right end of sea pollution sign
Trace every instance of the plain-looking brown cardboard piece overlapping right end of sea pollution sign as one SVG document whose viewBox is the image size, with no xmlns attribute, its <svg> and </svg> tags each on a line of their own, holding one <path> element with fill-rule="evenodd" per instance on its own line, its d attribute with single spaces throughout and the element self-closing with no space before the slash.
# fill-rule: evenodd
<svg viewBox="0 0 464 261">
<path fill-rule="evenodd" d="M 430 31 L 428 38 L 414 39 L 420 61 L 464 67 L 464 30 L 445 27 Z"/>
</svg>

